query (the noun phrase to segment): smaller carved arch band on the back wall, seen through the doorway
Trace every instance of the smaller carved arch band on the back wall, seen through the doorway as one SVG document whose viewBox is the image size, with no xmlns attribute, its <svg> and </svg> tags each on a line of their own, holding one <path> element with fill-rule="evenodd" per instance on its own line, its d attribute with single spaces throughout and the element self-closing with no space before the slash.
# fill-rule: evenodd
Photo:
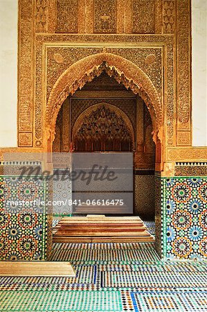
<svg viewBox="0 0 207 312">
<path fill-rule="evenodd" d="M 90 116 L 92 112 L 95 112 L 98 109 L 98 107 L 101 107 L 101 106 L 108 108 L 109 110 L 111 110 L 111 112 L 115 112 L 115 114 L 118 117 L 121 117 L 123 119 L 123 121 L 125 122 L 128 130 L 129 130 L 129 133 L 132 136 L 133 148 L 135 148 L 134 128 L 133 128 L 132 122 L 130 121 L 129 117 L 127 116 L 127 114 L 125 114 L 125 112 L 123 112 L 123 110 L 120 110 L 120 108 L 118 108 L 114 105 L 111 105 L 109 103 L 105 103 L 105 102 L 100 102 L 98 104 L 95 104 L 95 105 L 88 107 L 86 110 L 84 110 L 78 116 L 78 119 L 75 121 L 75 124 L 73 125 L 72 142 L 74 141 L 75 134 L 78 131 L 78 129 L 80 128 L 80 126 L 82 125 L 82 122 L 85 119 L 85 117 Z"/>
</svg>

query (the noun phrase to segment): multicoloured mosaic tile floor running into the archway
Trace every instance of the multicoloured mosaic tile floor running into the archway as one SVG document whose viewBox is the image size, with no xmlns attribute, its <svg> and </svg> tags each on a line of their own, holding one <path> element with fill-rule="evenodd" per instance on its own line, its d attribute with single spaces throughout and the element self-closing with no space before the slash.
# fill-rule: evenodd
<svg viewBox="0 0 207 312">
<path fill-rule="evenodd" d="M 153 243 L 54 244 L 75 278 L 1 277 L 0 311 L 207 311 L 207 262 L 163 262 Z"/>
</svg>

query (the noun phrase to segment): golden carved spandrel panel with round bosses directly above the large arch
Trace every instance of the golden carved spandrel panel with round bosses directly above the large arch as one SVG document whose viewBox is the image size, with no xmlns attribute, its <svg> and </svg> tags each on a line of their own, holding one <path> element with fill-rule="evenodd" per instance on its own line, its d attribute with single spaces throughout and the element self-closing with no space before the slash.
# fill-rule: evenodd
<svg viewBox="0 0 207 312">
<path fill-rule="evenodd" d="M 57 77 L 60 77 L 72 64 L 89 55 L 102 53 L 102 47 L 81 47 L 77 44 L 73 46 L 48 46 L 46 48 L 47 62 L 47 100 Z M 105 53 L 113 53 L 133 62 L 140 67 L 152 80 L 154 87 L 161 98 L 162 92 L 162 49 L 159 48 L 133 48 L 106 47 Z"/>
</svg>

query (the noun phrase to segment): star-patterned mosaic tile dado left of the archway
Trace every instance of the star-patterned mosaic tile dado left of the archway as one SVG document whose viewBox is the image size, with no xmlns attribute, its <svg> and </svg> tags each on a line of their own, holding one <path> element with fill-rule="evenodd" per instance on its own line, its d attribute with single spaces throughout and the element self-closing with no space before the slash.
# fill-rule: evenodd
<svg viewBox="0 0 207 312">
<path fill-rule="evenodd" d="M 0 260 L 45 260 L 52 246 L 52 215 L 45 205 L 15 206 L 8 200 L 44 200 L 49 192 L 45 180 L 0 176 Z"/>
</svg>

